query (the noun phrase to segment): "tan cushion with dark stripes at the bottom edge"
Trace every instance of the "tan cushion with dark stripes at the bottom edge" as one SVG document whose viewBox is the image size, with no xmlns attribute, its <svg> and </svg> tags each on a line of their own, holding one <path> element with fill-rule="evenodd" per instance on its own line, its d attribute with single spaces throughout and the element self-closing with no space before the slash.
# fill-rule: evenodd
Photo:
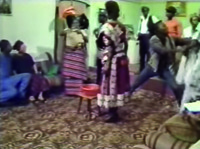
<svg viewBox="0 0 200 149">
<path fill-rule="evenodd" d="M 169 133 L 157 131 L 145 137 L 145 145 L 151 149 L 188 149 L 192 143 L 178 140 Z"/>
</svg>

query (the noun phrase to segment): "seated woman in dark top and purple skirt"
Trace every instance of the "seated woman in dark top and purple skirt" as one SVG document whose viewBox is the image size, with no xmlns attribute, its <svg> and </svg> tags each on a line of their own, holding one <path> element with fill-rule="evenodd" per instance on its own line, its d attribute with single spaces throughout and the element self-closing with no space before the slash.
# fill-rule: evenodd
<svg viewBox="0 0 200 149">
<path fill-rule="evenodd" d="M 26 45 L 18 40 L 15 42 L 13 49 L 18 51 L 13 57 L 13 67 L 17 74 L 30 73 L 32 74 L 32 80 L 30 84 L 30 98 L 29 100 L 34 102 L 36 97 L 39 101 L 44 102 L 43 93 L 49 89 L 48 81 L 38 75 L 37 67 L 33 61 L 33 58 L 26 53 Z"/>
</svg>

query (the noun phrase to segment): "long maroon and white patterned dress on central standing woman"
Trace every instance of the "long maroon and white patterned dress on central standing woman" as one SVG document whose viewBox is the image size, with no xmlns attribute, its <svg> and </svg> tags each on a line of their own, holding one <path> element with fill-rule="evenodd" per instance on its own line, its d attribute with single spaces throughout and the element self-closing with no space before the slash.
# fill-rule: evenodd
<svg viewBox="0 0 200 149">
<path fill-rule="evenodd" d="M 110 20 L 102 26 L 97 41 L 104 55 L 101 93 L 97 96 L 100 107 L 120 107 L 128 99 L 130 82 L 128 58 L 124 51 L 126 41 L 126 28 L 121 23 Z"/>
</svg>

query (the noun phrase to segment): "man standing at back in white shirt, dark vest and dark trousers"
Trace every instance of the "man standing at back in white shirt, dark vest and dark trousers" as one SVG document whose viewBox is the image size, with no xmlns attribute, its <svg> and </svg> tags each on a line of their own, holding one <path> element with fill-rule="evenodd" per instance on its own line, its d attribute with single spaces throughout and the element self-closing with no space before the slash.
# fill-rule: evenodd
<svg viewBox="0 0 200 149">
<path fill-rule="evenodd" d="M 140 17 L 138 40 L 140 42 L 140 72 L 144 69 L 149 54 L 149 39 L 154 35 L 154 24 L 159 20 L 149 14 L 148 7 L 142 7 L 142 16 Z"/>
</svg>

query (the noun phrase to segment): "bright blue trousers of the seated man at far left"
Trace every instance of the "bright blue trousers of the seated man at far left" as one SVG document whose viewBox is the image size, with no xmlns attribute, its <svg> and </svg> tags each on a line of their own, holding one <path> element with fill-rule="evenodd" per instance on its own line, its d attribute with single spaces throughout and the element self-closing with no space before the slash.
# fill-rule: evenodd
<svg viewBox="0 0 200 149">
<path fill-rule="evenodd" d="M 30 79 L 31 74 L 23 73 L 0 80 L 0 102 L 24 99 Z"/>
</svg>

